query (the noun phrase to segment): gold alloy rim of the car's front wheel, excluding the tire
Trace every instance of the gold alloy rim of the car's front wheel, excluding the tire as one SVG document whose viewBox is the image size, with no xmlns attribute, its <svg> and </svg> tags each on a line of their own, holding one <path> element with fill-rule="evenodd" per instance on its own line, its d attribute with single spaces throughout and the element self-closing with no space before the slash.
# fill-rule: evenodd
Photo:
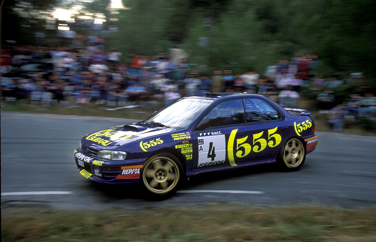
<svg viewBox="0 0 376 242">
<path fill-rule="evenodd" d="M 154 156 L 144 166 L 143 182 L 149 191 L 167 194 L 176 187 L 179 176 L 179 167 L 173 159 Z"/>
</svg>

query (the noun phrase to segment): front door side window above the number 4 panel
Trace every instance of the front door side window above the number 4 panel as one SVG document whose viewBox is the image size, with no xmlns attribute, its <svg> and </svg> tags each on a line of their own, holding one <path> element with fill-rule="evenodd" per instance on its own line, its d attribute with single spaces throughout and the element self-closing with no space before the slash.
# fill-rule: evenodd
<svg viewBox="0 0 376 242">
<path fill-rule="evenodd" d="M 208 127 L 244 123 L 244 107 L 240 99 L 219 103 L 208 115 Z"/>
</svg>

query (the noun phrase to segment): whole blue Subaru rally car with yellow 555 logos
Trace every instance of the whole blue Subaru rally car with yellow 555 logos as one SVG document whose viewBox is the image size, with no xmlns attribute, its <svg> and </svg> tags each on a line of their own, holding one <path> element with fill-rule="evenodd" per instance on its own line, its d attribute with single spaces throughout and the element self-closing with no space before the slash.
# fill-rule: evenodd
<svg viewBox="0 0 376 242">
<path fill-rule="evenodd" d="M 166 196 L 195 174 L 278 162 L 298 170 L 318 142 L 310 112 L 256 94 L 180 98 L 132 124 L 88 134 L 74 150 L 78 172 L 100 183 L 140 183 Z"/>
</svg>

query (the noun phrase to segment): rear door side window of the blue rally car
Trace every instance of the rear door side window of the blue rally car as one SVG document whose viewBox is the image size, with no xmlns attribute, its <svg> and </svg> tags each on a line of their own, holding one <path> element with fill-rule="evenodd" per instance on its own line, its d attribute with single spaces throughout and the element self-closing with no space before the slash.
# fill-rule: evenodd
<svg viewBox="0 0 376 242">
<path fill-rule="evenodd" d="M 280 114 L 266 101 L 259 98 L 244 98 L 247 123 L 280 119 Z"/>
</svg>

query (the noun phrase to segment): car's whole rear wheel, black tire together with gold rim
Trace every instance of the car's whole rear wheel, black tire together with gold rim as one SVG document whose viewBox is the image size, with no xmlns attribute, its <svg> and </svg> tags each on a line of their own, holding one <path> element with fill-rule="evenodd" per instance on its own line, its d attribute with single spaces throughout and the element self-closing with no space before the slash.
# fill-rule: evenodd
<svg viewBox="0 0 376 242">
<path fill-rule="evenodd" d="M 306 147 L 299 138 L 290 138 L 280 150 L 279 164 L 285 171 L 297 171 L 304 164 Z"/>
</svg>

